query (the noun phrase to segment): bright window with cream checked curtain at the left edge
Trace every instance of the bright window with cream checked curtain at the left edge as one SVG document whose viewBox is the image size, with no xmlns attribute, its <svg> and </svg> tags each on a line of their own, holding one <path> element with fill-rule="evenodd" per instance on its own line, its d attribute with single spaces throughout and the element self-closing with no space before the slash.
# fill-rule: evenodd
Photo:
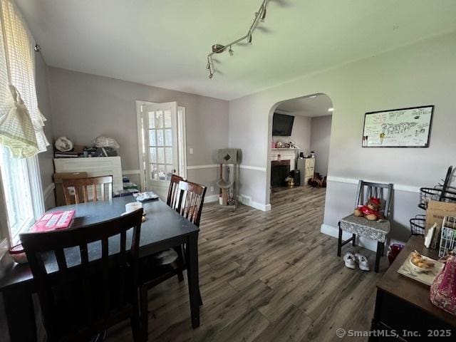
<svg viewBox="0 0 456 342">
<path fill-rule="evenodd" d="M 43 214 L 37 152 L 46 120 L 35 89 L 35 45 L 13 0 L 0 0 L 0 249 Z"/>
</svg>

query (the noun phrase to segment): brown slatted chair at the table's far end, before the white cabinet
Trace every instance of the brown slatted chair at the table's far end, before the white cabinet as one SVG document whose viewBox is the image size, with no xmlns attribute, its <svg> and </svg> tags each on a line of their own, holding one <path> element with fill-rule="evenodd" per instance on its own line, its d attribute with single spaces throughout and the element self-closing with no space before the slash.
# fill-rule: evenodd
<svg viewBox="0 0 456 342">
<path fill-rule="evenodd" d="M 97 202 L 98 186 L 100 186 L 99 195 L 102 201 L 109 201 L 113 198 L 113 176 L 74 178 L 63 180 L 62 184 L 66 205 L 73 204 L 73 197 L 75 204 L 87 203 L 90 202 L 90 199 Z M 82 201 L 80 197 L 82 197 Z"/>
</svg>

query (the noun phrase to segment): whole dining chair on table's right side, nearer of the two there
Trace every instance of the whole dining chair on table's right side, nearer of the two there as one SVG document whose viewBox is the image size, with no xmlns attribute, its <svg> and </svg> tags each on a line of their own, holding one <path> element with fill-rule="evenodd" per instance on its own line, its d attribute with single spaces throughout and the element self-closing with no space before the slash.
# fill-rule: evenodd
<svg viewBox="0 0 456 342">
<path fill-rule="evenodd" d="M 197 227 L 199 227 L 199 222 L 201 220 L 206 189 L 207 188 L 202 185 L 185 180 L 181 180 L 178 185 L 176 211 Z M 140 264 L 140 319 L 141 331 L 145 334 L 143 341 L 147 341 L 147 292 L 152 289 L 152 287 L 172 278 L 172 276 L 182 275 L 182 271 L 187 269 L 187 258 L 185 258 L 187 249 L 185 248 L 185 244 L 179 248 L 183 249 L 182 257 L 180 257 L 180 254 L 176 253 L 174 249 L 168 249 L 165 252 L 157 253 L 154 256 L 145 259 L 143 263 Z M 164 254 L 167 256 L 166 259 L 162 257 Z M 175 254 L 175 256 L 170 257 L 171 254 Z M 199 305 L 202 305 L 201 294 L 199 294 Z"/>
</svg>

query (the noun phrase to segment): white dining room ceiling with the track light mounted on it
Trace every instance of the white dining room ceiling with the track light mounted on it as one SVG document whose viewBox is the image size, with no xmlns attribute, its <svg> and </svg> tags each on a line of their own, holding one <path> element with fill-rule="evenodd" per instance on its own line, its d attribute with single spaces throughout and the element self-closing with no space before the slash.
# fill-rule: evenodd
<svg viewBox="0 0 456 342">
<path fill-rule="evenodd" d="M 260 0 L 16 2 L 50 66 L 227 100 L 456 30 L 455 0 L 271 0 L 209 80 L 212 44 L 246 33 Z"/>
</svg>

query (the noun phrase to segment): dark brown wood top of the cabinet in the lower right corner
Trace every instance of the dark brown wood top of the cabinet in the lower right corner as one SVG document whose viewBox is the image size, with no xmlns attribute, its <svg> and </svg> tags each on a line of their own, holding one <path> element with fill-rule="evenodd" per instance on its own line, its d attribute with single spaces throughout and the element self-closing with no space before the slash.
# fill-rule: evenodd
<svg viewBox="0 0 456 342">
<path fill-rule="evenodd" d="M 399 267 L 403 264 L 408 255 L 414 250 L 430 257 L 438 259 L 438 253 L 435 249 L 427 249 L 424 247 L 423 237 L 413 236 L 403 250 L 399 253 L 388 271 L 380 279 L 377 284 L 379 290 L 386 291 L 389 294 L 399 297 L 410 304 L 417 306 L 419 309 L 426 311 L 428 314 L 439 318 L 442 321 L 456 327 L 456 316 L 453 316 L 442 309 L 434 306 L 429 299 L 429 286 L 418 281 L 410 279 L 402 274 L 398 274 Z"/>
</svg>

